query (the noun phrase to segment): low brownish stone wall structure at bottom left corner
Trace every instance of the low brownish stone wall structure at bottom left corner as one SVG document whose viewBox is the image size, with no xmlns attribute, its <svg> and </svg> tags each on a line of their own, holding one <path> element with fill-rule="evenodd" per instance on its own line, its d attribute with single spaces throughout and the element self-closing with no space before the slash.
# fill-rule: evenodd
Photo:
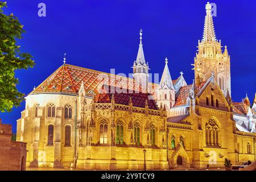
<svg viewBox="0 0 256 182">
<path fill-rule="evenodd" d="M 26 170 L 26 143 L 11 141 L 11 125 L 0 119 L 0 171 Z"/>
</svg>

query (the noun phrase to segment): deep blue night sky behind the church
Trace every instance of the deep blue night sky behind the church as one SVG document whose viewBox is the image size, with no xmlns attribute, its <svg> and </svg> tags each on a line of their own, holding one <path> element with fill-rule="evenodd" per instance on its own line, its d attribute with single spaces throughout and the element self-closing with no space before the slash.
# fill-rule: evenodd
<svg viewBox="0 0 256 182">
<path fill-rule="evenodd" d="M 47 16 L 38 16 L 38 4 L 46 3 Z M 67 63 L 116 73 L 131 73 L 143 29 L 143 48 L 151 73 L 162 75 L 164 58 L 171 76 L 184 72 L 191 84 L 193 59 L 202 39 L 207 1 L 149 0 L 7 0 L 5 14 L 14 13 L 27 31 L 18 44 L 34 56 L 36 66 L 16 71 L 18 89 L 28 94 L 60 65 Z M 214 1 L 217 39 L 228 46 L 231 62 L 232 98 L 240 102 L 256 91 L 256 6 L 250 1 Z M 3 123 L 16 119 L 25 102 L 10 113 L 1 113 Z"/>
</svg>

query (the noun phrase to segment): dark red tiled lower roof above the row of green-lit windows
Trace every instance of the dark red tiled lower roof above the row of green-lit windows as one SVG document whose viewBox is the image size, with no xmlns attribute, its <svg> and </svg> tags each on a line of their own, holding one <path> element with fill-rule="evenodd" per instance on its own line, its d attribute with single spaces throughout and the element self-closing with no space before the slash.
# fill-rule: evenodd
<svg viewBox="0 0 256 182">
<path fill-rule="evenodd" d="M 113 86 L 109 90 L 114 90 Z M 115 90 L 116 87 L 115 87 Z M 114 96 L 115 104 L 129 105 L 130 97 L 133 102 L 134 107 L 145 108 L 146 100 L 148 100 L 148 109 L 159 110 L 158 106 L 155 103 L 155 100 L 152 99 L 151 94 L 148 93 L 134 93 L 133 90 L 127 90 L 127 92 L 122 93 L 109 93 L 104 90 L 103 93 L 98 93 L 94 98 L 95 103 L 110 103 L 112 97 Z"/>
</svg>

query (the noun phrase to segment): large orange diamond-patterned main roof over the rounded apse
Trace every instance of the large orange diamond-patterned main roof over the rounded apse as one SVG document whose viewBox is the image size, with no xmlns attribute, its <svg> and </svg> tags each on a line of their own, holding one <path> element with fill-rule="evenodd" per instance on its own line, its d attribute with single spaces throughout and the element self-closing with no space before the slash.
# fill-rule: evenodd
<svg viewBox="0 0 256 182">
<path fill-rule="evenodd" d="M 122 88 L 141 90 L 137 84 L 133 84 L 133 78 L 111 75 L 110 73 L 95 71 L 92 69 L 77 67 L 75 65 L 63 64 L 51 76 L 35 88 L 30 94 L 37 93 L 65 93 L 77 94 L 82 81 L 84 82 L 85 92 L 88 94 L 97 94 L 101 88 L 104 77 L 109 77 L 109 85 L 121 86 Z M 125 80 L 126 79 L 126 80 Z M 134 87 L 132 85 L 135 85 Z M 157 84 L 148 83 L 152 89 L 148 90 L 154 95 Z M 130 88 L 133 87 L 133 88 Z"/>
</svg>

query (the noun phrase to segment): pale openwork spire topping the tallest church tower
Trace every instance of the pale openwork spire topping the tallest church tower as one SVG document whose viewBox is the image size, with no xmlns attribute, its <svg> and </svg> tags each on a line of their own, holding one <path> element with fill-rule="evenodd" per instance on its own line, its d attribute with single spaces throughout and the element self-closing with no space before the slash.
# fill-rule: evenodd
<svg viewBox="0 0 256 182">
<path fill-rule="evenodd" d="M 204 20 L 204 35 L 203 35 L 203 42 L 205 41 L 216 41 L 216 36 L 214 32 L 214 26 L 213 26 L 213 19 L 212 19 L 212 5 L 207 2 L 207 5 L 205 5 L 206 10 L 206 16 Z"/>
</svg>

